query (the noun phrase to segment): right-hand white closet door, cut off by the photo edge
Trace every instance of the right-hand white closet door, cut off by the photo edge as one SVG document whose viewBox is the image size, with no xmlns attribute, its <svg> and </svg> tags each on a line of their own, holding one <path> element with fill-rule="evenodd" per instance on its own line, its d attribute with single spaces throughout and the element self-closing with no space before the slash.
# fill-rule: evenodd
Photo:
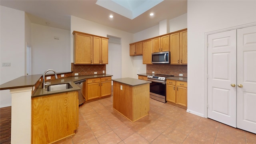
<svg viewBox="0 0 256 144">
<path fill-rule="evenodd" d="M 237 128 L 256 133 L 256 26 L 237 30 Z"/>
</svg>

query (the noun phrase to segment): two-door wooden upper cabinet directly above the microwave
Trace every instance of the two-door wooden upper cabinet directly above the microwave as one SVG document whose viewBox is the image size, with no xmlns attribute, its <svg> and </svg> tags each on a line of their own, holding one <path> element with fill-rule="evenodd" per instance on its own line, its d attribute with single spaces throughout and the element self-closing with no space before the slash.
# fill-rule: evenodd
<svg viewBox="0 0 256 144">
<path fill-rule="evenodd" d="M 153 52 L 170 51 L 170 35 L 161 36 L 153 39 Z"/>
</svg>

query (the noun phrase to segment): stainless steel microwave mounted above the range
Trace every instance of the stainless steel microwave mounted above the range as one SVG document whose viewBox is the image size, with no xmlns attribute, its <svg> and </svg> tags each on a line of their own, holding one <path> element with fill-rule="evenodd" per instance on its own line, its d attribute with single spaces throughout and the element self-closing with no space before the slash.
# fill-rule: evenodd
<svg viewBox="0 0 256 144">
<path fill-rule="evenodd" d="M 155 52 L 152 53 L 153 64 L 169 64 L 170 63 L 170 52 Z"/>
</svg>

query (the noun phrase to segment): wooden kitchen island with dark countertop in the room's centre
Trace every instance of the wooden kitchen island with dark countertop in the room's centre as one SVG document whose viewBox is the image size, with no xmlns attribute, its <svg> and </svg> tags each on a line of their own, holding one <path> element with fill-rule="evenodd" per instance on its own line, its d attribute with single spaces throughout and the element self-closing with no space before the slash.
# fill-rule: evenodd
<svg viewBox="0 0 256 144">
<path fill-rule="evenodd" d="M 113 108 L 135 122 L 148 115 L 150 81 L 135 78 L 113 80 Z"/>
</svg>

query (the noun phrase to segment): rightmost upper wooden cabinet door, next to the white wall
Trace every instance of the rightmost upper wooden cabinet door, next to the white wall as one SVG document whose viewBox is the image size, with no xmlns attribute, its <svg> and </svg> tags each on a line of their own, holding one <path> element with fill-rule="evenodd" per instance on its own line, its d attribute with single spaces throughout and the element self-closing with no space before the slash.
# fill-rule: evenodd
<svg viewBox="0 0 256 144">
<path fill-rule="evenodd" d="M 180 32 L 180 64 L 188 64 L 187 31 Z"/>
</svg>

